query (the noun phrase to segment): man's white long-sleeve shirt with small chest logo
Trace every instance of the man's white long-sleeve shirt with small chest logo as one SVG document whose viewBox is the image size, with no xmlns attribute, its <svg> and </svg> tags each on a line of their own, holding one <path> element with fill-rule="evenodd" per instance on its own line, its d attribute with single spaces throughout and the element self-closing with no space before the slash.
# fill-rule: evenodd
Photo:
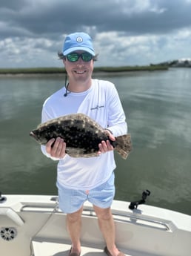
<svg viewBox="0 0 191 256">
<path fill-rule="evenodd" d="M 67 114 L 83 113 L 103 128 L 108 128 L 115 137 L 127 134 L 124 110 L 113 83 L 92 79 L 87 91 L 70 92 L 67 96 L 64 93 L 65 88 L 61 88 L 44 102 L 41 122 Z M 50 157 L 44 145 L 41 151 Z M 115 167 L 113 151 L 90 158 L 74 158 L 66 154 L 58 162 L 57 182 L 66 188 L 90 190 L 105 183 Z"/>
</svg>

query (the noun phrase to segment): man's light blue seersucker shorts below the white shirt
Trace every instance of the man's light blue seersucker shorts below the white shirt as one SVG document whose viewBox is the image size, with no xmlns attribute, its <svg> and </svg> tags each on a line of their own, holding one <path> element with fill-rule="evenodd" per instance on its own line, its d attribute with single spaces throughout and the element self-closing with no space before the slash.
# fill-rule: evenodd
<svg viewBox="0 0 191 256">
<path fill-rule="evenodd" d="M 110 207 L 115 196 L 114 180 L 115 174 L 113 172 L 107 182 L 90 191 L 64 188 L 57 183 L 59 209 L 64 213 L 73 213 L 81 209 L 85 201 L 89 201 L 102 209 Z"/>
</svg>

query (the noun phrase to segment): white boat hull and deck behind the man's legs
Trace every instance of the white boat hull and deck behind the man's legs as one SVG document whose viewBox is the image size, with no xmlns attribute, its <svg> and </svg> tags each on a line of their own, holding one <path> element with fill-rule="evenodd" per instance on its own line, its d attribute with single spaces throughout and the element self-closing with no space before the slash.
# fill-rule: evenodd
<svg viewBox="0 0 191 256">
<path fill-rule="evenodd" d="M 57 197 L 7 195 L 0 203 L 1 255 L 68 255 L 70 237 L 66 214 Z M 141 205 L 130 210 L 129 202 L 113 201 L 116 244 L 132 256 L 190 256 L 191 217 L 176 211 Z M 81 255 L 105 255 L 105 243 L 90 203 L 84 204 Z"/>
</svg>

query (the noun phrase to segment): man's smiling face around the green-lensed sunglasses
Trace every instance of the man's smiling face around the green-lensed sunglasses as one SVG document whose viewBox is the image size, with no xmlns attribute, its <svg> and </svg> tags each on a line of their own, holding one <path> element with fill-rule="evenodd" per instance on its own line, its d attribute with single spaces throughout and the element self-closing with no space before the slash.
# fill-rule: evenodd
<svg viewBox="0 0 191 256">
<path fill-rule="evenodd" d="M 85 52 L 83 50 L 77 50 L 75 53 L 81 54 Z M 91 59 L 89 62 L 84 62 L 84 60 L 80 57 L 76 62 L 70 62 L 66 58 L 63 62 L 69 79 L 76 82 L 86 82 L 87 80 L 91 79 L 93 73 L 93 59 Z"/>
</svg>

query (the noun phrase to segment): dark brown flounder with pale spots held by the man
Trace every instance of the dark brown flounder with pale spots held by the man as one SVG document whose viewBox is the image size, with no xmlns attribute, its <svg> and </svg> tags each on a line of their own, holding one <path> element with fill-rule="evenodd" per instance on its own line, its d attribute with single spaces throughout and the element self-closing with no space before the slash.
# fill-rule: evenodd
<svg viewBox="0 0 191 256">
<path fill-rule="evenodd" d="M 41 145 L 56 137 L 66 142 L 66 153 L 70 157 L 98 157 L 98 144 L 110 140 L 107 132 L 96 121 L 85 114 L 69 114 L 38 125 L 30 136 Z M 110 143 L 124 159 L 131 151 L 130 134 L 115 137 Z"/>
</svg>

